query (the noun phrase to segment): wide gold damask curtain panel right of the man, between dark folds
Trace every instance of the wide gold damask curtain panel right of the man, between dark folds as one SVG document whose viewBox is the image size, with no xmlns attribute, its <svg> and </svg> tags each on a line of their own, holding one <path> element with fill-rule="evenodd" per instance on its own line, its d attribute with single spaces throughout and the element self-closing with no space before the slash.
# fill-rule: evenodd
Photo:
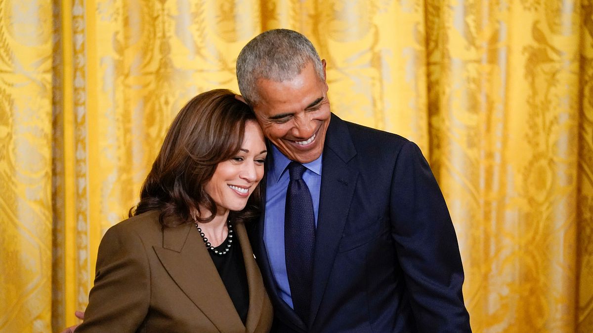
<svg viewBox="0 0 593 333">
<path fill-rule="evenodd" d="M 557 4 L 427 7 L 431 164 L 480 331 L 576 326 L 579 20 Z"/>
</svg>

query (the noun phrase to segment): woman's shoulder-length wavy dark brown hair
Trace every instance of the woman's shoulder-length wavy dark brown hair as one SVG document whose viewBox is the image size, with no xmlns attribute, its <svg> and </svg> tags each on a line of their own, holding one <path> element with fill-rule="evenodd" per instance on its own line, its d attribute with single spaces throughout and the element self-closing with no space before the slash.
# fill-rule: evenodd
<svg viewBox="0 0 593 333">
<path fill-rule="evenodd" d="M 216 204 L 204 187 L 216 166 L 232 158 L 243 143 L 247 121 L 255 121 L 247 104 L 235 99 L 227 89 L 215 89 L 192 98 L 171 123 L 140 193 L 140 201 L 130 217 L 149 210 L 161 212 L 164 227 L 196 219 L 210 222 Z M 230 212 L 235 222 L 252 219 L 259 212 L 260 185 L 240 212 Z M 208 212 L 200 211 L 207 209 Z M 165 217 L 173 216 L 176 219 Z"/>
</svg>

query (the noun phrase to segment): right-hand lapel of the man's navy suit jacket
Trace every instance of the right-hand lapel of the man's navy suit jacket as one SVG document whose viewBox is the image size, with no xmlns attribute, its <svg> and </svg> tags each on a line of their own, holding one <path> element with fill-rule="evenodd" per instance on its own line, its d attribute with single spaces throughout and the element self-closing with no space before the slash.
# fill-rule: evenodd
<svg viewBox="0 0 593 333">
<path fill-rule="evenodd" d="M 356 150 L 346 124 L 331 114 L 323 149 L 309 327 L 313 325 L 321 299 L 323 299 L 327 278 L 333 267 L 337 247 L 350 209 L 350 201 L 352 201 L 358 178 L 358 169 L 349 166 L 348 162 L 355 155 Z"/>
</svg>

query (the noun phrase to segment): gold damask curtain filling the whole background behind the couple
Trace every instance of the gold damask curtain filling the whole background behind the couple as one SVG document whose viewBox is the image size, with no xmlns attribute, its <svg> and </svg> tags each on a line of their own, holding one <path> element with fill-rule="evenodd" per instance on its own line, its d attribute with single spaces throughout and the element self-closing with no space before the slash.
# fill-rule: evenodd
<svg viewBox="0 0 593 333">
<path fill-rule="evenodd" d="M 0 332 L 77 322 L 176 112 L 279 27 L 422 148 L 474 331 L 593 331 L 592 0 L 0 0 Z"/>
</svg>

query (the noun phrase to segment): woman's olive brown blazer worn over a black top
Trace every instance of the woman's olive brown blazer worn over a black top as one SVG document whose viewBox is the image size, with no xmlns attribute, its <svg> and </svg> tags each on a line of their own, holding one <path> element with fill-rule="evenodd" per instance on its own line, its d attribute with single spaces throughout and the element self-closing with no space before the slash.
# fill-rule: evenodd
<svg viewBox="0 0 593 333">
<path fill-rule="evenodd" d="M 245 226 L 243 252 L 249 309 L 243 325 L 193 224 L 162 229 L 146 212 L 113 226 L 101 240 L 84 332 L 267 332 L 272 305 Z"/>
</svg>

